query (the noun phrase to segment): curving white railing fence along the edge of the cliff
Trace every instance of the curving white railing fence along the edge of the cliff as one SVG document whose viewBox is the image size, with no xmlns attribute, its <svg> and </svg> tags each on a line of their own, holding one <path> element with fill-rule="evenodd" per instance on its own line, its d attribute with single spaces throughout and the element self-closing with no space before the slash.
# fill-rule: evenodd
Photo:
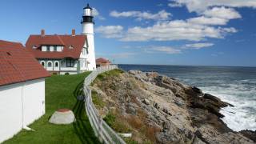
<svg viewBox="0 0 256 144">
<path fill-rule="evenodd" d="M 84 94 L 85 94 L 85 102 L 86 102 L 86 113 L 90 121 L 90 125 L 94 129 L 94 134 L 98 137 L 100 142 L 106 144 L 112 143 L 120 143 L 125 144 L 124 140 L 114 132 L 106 124 L 106 122 L 102 119 L 102 117 L 98 114 L 98 110 L 94 106 L 91 98 L 91 90 L 90 90 L 90 83 L 94 81 L 94 79 L 98 76 L 98 74 L 102 74 L 103 72 L 117 69 L 118 66 L 110 65 L 99 67 L 96 70 L 92 71 L 84 81 Z"/>
</svg>

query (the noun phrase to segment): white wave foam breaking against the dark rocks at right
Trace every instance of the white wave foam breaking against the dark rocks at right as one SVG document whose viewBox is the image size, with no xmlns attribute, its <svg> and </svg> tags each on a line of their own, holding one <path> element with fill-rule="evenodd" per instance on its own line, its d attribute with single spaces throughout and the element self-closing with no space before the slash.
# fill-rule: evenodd
<svg viewBox="0 0 256 144">
<path fill-rule="evenodd" d="M 234 87 L 237 86 L 233 86 L 233 88 Z M 203 87 L 202 90 L 205 93 L 213 94 L 221 98 L 224 102 L 229 102 L 234 105 L 234 107 L 227 106 L 222 108 L 220 111 L 220 113 L 225 116 L 222 118 L 222 121 L 225 122 L 230 129 L 234 131 L 256 130 L 256 112 L 251 111 L 256 110 L 254 96 L 243 97 L 241 95 L 245 95 L 245 91 L 241 92 L 240 90 L 226 89 L 217 86 Z M 248 93 L 255 94 L 254 91 L 248 91 Z"/>
</svg>

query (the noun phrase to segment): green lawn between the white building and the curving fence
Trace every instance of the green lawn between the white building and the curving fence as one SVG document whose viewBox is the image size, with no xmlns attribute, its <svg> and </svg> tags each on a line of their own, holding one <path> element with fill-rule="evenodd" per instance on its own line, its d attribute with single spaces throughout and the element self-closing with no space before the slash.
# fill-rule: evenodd
<svg viewBox="0 0 256 144">
<path fill-rule="evenodd" d="M 46 78 L 46 114 L 29 126 L 36 131 L 22 130 L 4 143 L 99 143 L 86 117 L 84 102 L 76 99 L 82 94 L 83 80 L 88 74 Z M 50 124 L 51 114 L 60 108 L 73 110 L 77 121 L 70 125 Z"/>
</svg>

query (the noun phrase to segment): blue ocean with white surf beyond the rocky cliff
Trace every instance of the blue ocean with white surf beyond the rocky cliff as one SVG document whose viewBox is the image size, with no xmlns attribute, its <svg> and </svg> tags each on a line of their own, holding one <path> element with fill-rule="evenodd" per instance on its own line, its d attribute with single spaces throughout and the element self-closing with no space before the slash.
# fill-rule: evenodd
<svg viewBox="0 0 256 144">
<path fill-rule="evenodd" d="M 230 129 L 256 130 L 256 67 L 118 65 L 122 70 L 155 71 L 197 86 L 234 107 L 222 108 Z"/>
</svg>

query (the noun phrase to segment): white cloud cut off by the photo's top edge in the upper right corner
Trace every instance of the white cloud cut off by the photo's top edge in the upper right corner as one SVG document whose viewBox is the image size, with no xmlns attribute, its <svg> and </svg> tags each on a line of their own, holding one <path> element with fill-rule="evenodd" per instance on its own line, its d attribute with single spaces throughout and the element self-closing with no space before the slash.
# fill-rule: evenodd
<svg viewBox="0 0 256 144">
<path fill-rule="evenodd" d="M 173 0 L 171 3 L 186 6 L 190 12 L 202 12 L 211 6 L 256 8 L 255 0 Z"/>
</svg>

